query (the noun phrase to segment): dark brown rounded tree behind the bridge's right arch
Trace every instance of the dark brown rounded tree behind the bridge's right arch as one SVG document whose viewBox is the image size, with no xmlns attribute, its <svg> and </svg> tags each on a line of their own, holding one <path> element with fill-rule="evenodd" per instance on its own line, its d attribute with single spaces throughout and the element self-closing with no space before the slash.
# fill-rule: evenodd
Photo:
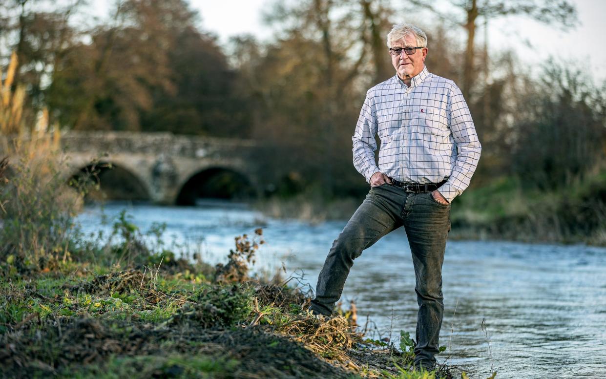
<svg viewBox="0 0 606 379">
<path fill-rule="evenodd" d="M 241 75 L 230 69 L 215 38 L 194 27 L 182 30 L 168 52 L 174 93 L 153 91 L 153 107 L 143 112 L 144 130 L 245 137 L 247 105 L 236 90 Z"/>
</svg>

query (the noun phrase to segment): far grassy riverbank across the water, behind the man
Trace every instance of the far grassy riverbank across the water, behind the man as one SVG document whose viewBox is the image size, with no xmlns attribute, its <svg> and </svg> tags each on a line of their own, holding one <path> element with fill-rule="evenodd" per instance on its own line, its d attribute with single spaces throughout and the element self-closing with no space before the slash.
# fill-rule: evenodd
<svg viewBox="0 0 606 379">
<path fill-rule="evenodd" d="M 325 200 L 317 195 L 259 201 L 273 218 L 310 223 L 348 220 L 363 198 Z M 495 178 L 454 199 L 450 238 L 606 246 L 606 172 L 574 181 L 565 190 L 525 188 L 515 178 Z"/>
</svg>

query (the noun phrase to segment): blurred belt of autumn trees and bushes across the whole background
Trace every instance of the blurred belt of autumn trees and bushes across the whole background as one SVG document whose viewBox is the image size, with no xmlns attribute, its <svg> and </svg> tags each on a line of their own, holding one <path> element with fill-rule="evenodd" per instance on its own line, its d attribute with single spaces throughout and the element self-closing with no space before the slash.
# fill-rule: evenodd
<svg viewBox="0 0 606 379">
<path fill-rule="evenodd" d="M 94 27 L 70 22 L 87 10 L 84 3 L 40 12 L 38 5 L 48 3 L 0 5 L 6 14 L 0 30 L 7 33 L 2 51 L 15 50 L 20 62 L 7 80 L 22 83 L 13 97 L 27 95 L 21 119 L 29 129 L 47 106 L 49 124 L 73 129 L 252 137 L 264 143 L 251 159 L 259 162 L 252 175 L 266 184 L 265 193 L 295 204 L 297 196 L 314 196 L 319 204 L 287 204 L 281 213 L 295 217 L 321 220 L 323 202 L 351 197 L 359 203 L 367 191 L 351 166 L 348 141 L 365 90 L 393 75 L 384 36 L 399 21 L 396 5 L 276 1 L 264 13 L 273 40 L 237 36 L 221 46 L 184 0 L 119 2 L 112 18 Z M 484 147 L 472 186 L 499 175 L 568 185 L 588 176 L 591 164 L 604 164 L 603 86 L 562 64 L 542 73 L 521 70 L 527 62 L 476 41 L 482 27 L 508 16 L 574 27 L 570 2 L 467 1 L 449 14 L 433 2 L 410 4 L 443 21 L 422 25 L 430 41 L 426 64 L 467 93 Z M 458 41 L 451 25 L 464 25 L 466 41 Z M 7 93 L 10 86 L 2 87 Z"/>
</svg>

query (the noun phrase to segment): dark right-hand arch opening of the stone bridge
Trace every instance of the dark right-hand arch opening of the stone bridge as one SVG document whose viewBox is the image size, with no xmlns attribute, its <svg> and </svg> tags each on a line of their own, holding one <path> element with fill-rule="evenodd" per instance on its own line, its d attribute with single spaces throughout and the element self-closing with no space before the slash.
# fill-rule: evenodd
<svg viewBox="0 0 606 379">
<path fill-rule="evenodd" d="M 196 199 L 247 200 L 256 195 L 248 176 L 229 167 L 206 167 L 189 175 L 176 197 L 178 205 L 195 205 Z"/>
</svg>

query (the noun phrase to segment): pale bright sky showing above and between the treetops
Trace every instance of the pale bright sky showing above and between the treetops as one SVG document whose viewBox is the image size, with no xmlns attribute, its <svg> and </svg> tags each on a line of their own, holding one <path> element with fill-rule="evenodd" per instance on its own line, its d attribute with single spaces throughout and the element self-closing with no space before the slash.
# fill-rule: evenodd
<svg viewBox="0 0 606 379">
<path fill-rule="evenodd" d="M 215 33 L 219 42 L 230 36 L 250 33 L 259 39 L 271 38 L 272 31 L 262 22 L 261 13 L 273 0 L 190 0 L 192 8 L 202 17 L 202 29 Z M 508 17 L 489 26 L 488 45 L 491 50 L 513 49 L 522 61 L 534 69 L 550 56 L 556 61 L 587 69 L 594 78 L 606 79 L 606 0 L 570 0 L 576 5 L 581 25 L 561 31 L 528 18 Z M 419 16 L 421 18 L 421 16 Z M 425 19 L 404 19 L 404 22 L 425 22 Z M 459 33 L 462 33 L 462 28 Z M 480 31 L 481 36 L 483 32 Z M 461 36 L 463 36 L 461 34 Z M 480 36 L 480 37 L 481 37 Z M 431 39 L 429 41 L 431 53 Z M 431 70 L 431 67 L 428 67 Z"/>
</svg>

